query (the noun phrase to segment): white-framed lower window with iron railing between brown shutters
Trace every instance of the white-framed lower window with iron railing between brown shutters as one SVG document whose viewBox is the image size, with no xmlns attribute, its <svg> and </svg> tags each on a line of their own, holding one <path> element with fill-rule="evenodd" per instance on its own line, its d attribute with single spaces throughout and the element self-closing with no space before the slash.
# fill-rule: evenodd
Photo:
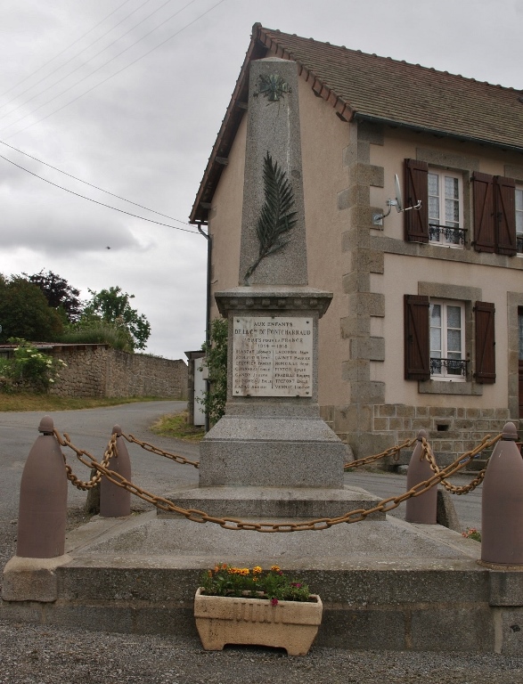
<svg viewBox="0 0 523 684">
<path fill-rule="evenodd" d="M 430 377 L 433 379 L 466 379 L 464 314 L 465 306 L 461 302 L 430 302 Z"/>
</svg>

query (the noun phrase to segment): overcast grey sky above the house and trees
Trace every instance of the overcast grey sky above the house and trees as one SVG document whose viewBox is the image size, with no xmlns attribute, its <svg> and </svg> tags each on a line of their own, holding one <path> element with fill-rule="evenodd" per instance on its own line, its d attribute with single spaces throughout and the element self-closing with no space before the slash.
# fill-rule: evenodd
<svg viewBox="0 0 523 684">
<path fill-rule="evenodd" d="M 196 231 L 184 222 L 255 22 L 523 89 L 522 0 L 1 0 L 0 12 L 0 141 L 166 216 L 0 154 L 173 226 L 0 159 L 0 273 L 51 270 L 83 298 L 120 286 L 151 322 L 147 351 L 166 358 L 205 338 L 207 243 L 174 226 Z"/>
</svg>

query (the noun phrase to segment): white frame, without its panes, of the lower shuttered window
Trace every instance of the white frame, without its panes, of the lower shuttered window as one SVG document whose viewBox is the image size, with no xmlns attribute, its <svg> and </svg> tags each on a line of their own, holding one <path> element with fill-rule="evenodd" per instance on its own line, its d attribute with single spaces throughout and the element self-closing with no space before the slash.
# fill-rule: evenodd
<svg viewBox="0 0 523 684">
<path fill-rule="evenodd" d="M 441 326 L 432 325 L 432 310 L 434 306 L 440 306 L 440 322 Z M 460 349 L 449 351 L 448 349 L 448 308 L 452 306 L 454 308 L 459 308 L 460 310 Z M 429 299 L 429 362 L 430 362 L 430 379 L 437 380 L 441 382 L 466 382 L 467 381 L 467 354 L 466 354 L 466 309 L 465 302 L 458 301 L 455 299 L 439 299 L 430 298 Z M 432 352 L 435 351 L 432 348 L 432 330 L 440 330 L 440 346 L 441 349 L 437 350 L 441 356 L 433 356 Z M 452 329 L 451 329 L 452 330 Z M 458 329 L 454 329 L 458 330 Z M 459 359 L 450 359 L 449 354 L 460 354 Z M 441 360 L 439 365 L 439 372 L 434 372 L 434 367 L 437 365 L 438 358 Z M 462 365 L 462 371 L 460 373 L 452 373 L 449 371 L 449 365 L 452 366 L 452 361 L 460 361 Z M 449 363 L 450 362 L 450 363 Z M 464 371 L 464 373 L 463 373 Z"/>
</svg>

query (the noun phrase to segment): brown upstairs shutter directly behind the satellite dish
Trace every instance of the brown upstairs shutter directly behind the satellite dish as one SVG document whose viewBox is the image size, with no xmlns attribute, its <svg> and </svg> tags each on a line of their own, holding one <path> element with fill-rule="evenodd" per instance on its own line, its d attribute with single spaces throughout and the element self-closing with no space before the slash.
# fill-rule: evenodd
<svg viewBox="0 0 523 684">
<path fill-rule="evenodd" d="M 421 209 L 405 211 L 405 240 L 429 242 L 429 166 L 424 161 L 405 159 L 405 208 L 421 199 Z"/>
</svg>

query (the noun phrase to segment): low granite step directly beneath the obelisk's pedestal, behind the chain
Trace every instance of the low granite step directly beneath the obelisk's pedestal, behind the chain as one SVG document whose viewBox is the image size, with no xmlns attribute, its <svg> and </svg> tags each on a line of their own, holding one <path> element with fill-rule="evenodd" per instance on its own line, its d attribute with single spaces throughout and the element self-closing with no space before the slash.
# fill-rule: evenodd
<svg viewBox="0 0 523 684">
<path fill-rule="evenodd" d="M 349 510 L 372 509 L 380 501 L 359 487 L 194 487 L 187 485 L 165 497 L 184 509 L 197 509 L 214 517 L 274 518 L 341 517 Z M 159 517 L 179 517 L 158 509 Z M 366 520 L 385 520 L 371 513 Z"/>
</svg>

